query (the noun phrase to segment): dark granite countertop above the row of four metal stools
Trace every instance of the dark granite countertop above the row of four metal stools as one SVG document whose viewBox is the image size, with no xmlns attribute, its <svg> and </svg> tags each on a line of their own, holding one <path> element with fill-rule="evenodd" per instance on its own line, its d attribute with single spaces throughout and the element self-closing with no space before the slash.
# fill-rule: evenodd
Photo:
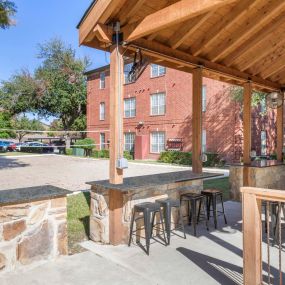
<svg viewBox="0 0 285 285">
<path fill-rule="evenodd" d="M 177 172 L 169 172 L 169 173 L 161 173 L 161 174 L 152 174 L 152 175 L 144 175 L 144 176 L 135 176 L 124 178 L 123 184 L 111 184 L 109 180 L 100 180 L 100 181 L 92 181 L 87 182 L 88 185 L 96 185 L 100 186 L 106 190 L 113 189 L 118 191 L 129 191 L 129 190 L 138 190 L 144 189 L 147 187 L 164 185 L 175 182 L 183 182 L 189 180 L 198 180 L 198 179 L 206 179 L 211 177 L 223 176 L 220 173 L 208 173 L 203 172 L 201 174 L 195 174 L 190 170 L 187 171 L 177 171 Z"/>
</svg>

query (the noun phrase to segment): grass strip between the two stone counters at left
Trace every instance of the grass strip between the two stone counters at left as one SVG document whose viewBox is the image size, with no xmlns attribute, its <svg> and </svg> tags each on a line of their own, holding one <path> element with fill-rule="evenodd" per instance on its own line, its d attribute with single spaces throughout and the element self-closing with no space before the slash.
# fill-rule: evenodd
<svg viewBox="0 0 285 285">
<path fill-rule="evenodd" d="M 89 239 L 90 193 L 67 197 L 67 228 L 69 254 L 84 251 L 80 242 Z"/>
</svg>

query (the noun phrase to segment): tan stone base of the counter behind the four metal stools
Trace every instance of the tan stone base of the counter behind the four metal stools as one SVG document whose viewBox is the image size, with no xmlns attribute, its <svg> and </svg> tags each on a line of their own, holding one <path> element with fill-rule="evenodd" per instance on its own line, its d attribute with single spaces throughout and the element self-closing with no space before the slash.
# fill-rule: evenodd
<svg viewBox="0 0 285 285">
<path fill-rule="evenodd" d="M 180 187 L 187 186 L 187 190 L 178 191 Z M 112 189 L 110 189 L 112 190 Z M 180 195 L 189 192 L 200 192 L 203 190 L 203 180 L 191 180 L 176 182 L 144 189 L 130 189 L 123 193 L 122 224 L 124 226 L 123 242 L 127 243 L 130 231 L 130 221 L 134 205 L 143 202 L 154 202 L 161 198 L 180 199 Z M 182 207 L 183 215 L 187 215 L 187 208 Z M 173 211 L 173 222 L 176 223 L 178 215 Z M 141 228 L 142 222 L 137 223 L 137 228 Z M 135 230 L 135 229 L 134 229 Z M 144 231 L 140 232 L 144 235 Z M 90 238 L 95 242 L 109 244 L 109 191 L 100 186 L 92 186 L 91 189 L 91 215 L 90 215 Z"/>
</svg>

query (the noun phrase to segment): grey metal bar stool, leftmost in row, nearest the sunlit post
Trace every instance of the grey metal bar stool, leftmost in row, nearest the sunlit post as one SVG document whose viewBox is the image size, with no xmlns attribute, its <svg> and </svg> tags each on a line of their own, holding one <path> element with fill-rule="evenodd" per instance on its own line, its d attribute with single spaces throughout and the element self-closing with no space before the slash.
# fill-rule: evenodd
<svg viewBox="0 0 285 285">
<path fill-rule="evenodd" d="M 139 213 L 142 213 L 143 215 L 136 217 L 136 214 L 139 214 Z M 160 204 L 145 202 L 145 203 L 137 204 L 133 208 L 133 215 L 132 215 L 131 227 L 130 227 L 130 237 L 129 237 L 129 244 L 128 244 L 129 246 L 131 245 L 133 233 L 137 232 L 137 229 L 133 231 L 134 222 L 139 219 L 143 219 L 144 228 L 145 228 L 145 239 L 146 239 L 146 253 L 147 255 L 149 255 L 150 239 L 152 237 L 152 231 L 154 227 L 154 218 L 157 213 L 159 213 L 159 219 L 160 219 L 159 223 L 157 224 L 161 224 L 164 241 L 165 241 L 165 244 L 167 245 Z"/>
</svg>

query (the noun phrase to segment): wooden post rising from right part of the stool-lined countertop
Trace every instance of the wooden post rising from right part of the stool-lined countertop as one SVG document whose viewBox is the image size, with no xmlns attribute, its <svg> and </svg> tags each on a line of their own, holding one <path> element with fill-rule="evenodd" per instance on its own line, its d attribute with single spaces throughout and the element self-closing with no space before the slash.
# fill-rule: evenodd
<svg viewBox="0 0 285 285">
<path fill-rule="evenodd" d="M 202 69 L 192 75 L 192 170 L 202 173 Z"/>
</svg>

